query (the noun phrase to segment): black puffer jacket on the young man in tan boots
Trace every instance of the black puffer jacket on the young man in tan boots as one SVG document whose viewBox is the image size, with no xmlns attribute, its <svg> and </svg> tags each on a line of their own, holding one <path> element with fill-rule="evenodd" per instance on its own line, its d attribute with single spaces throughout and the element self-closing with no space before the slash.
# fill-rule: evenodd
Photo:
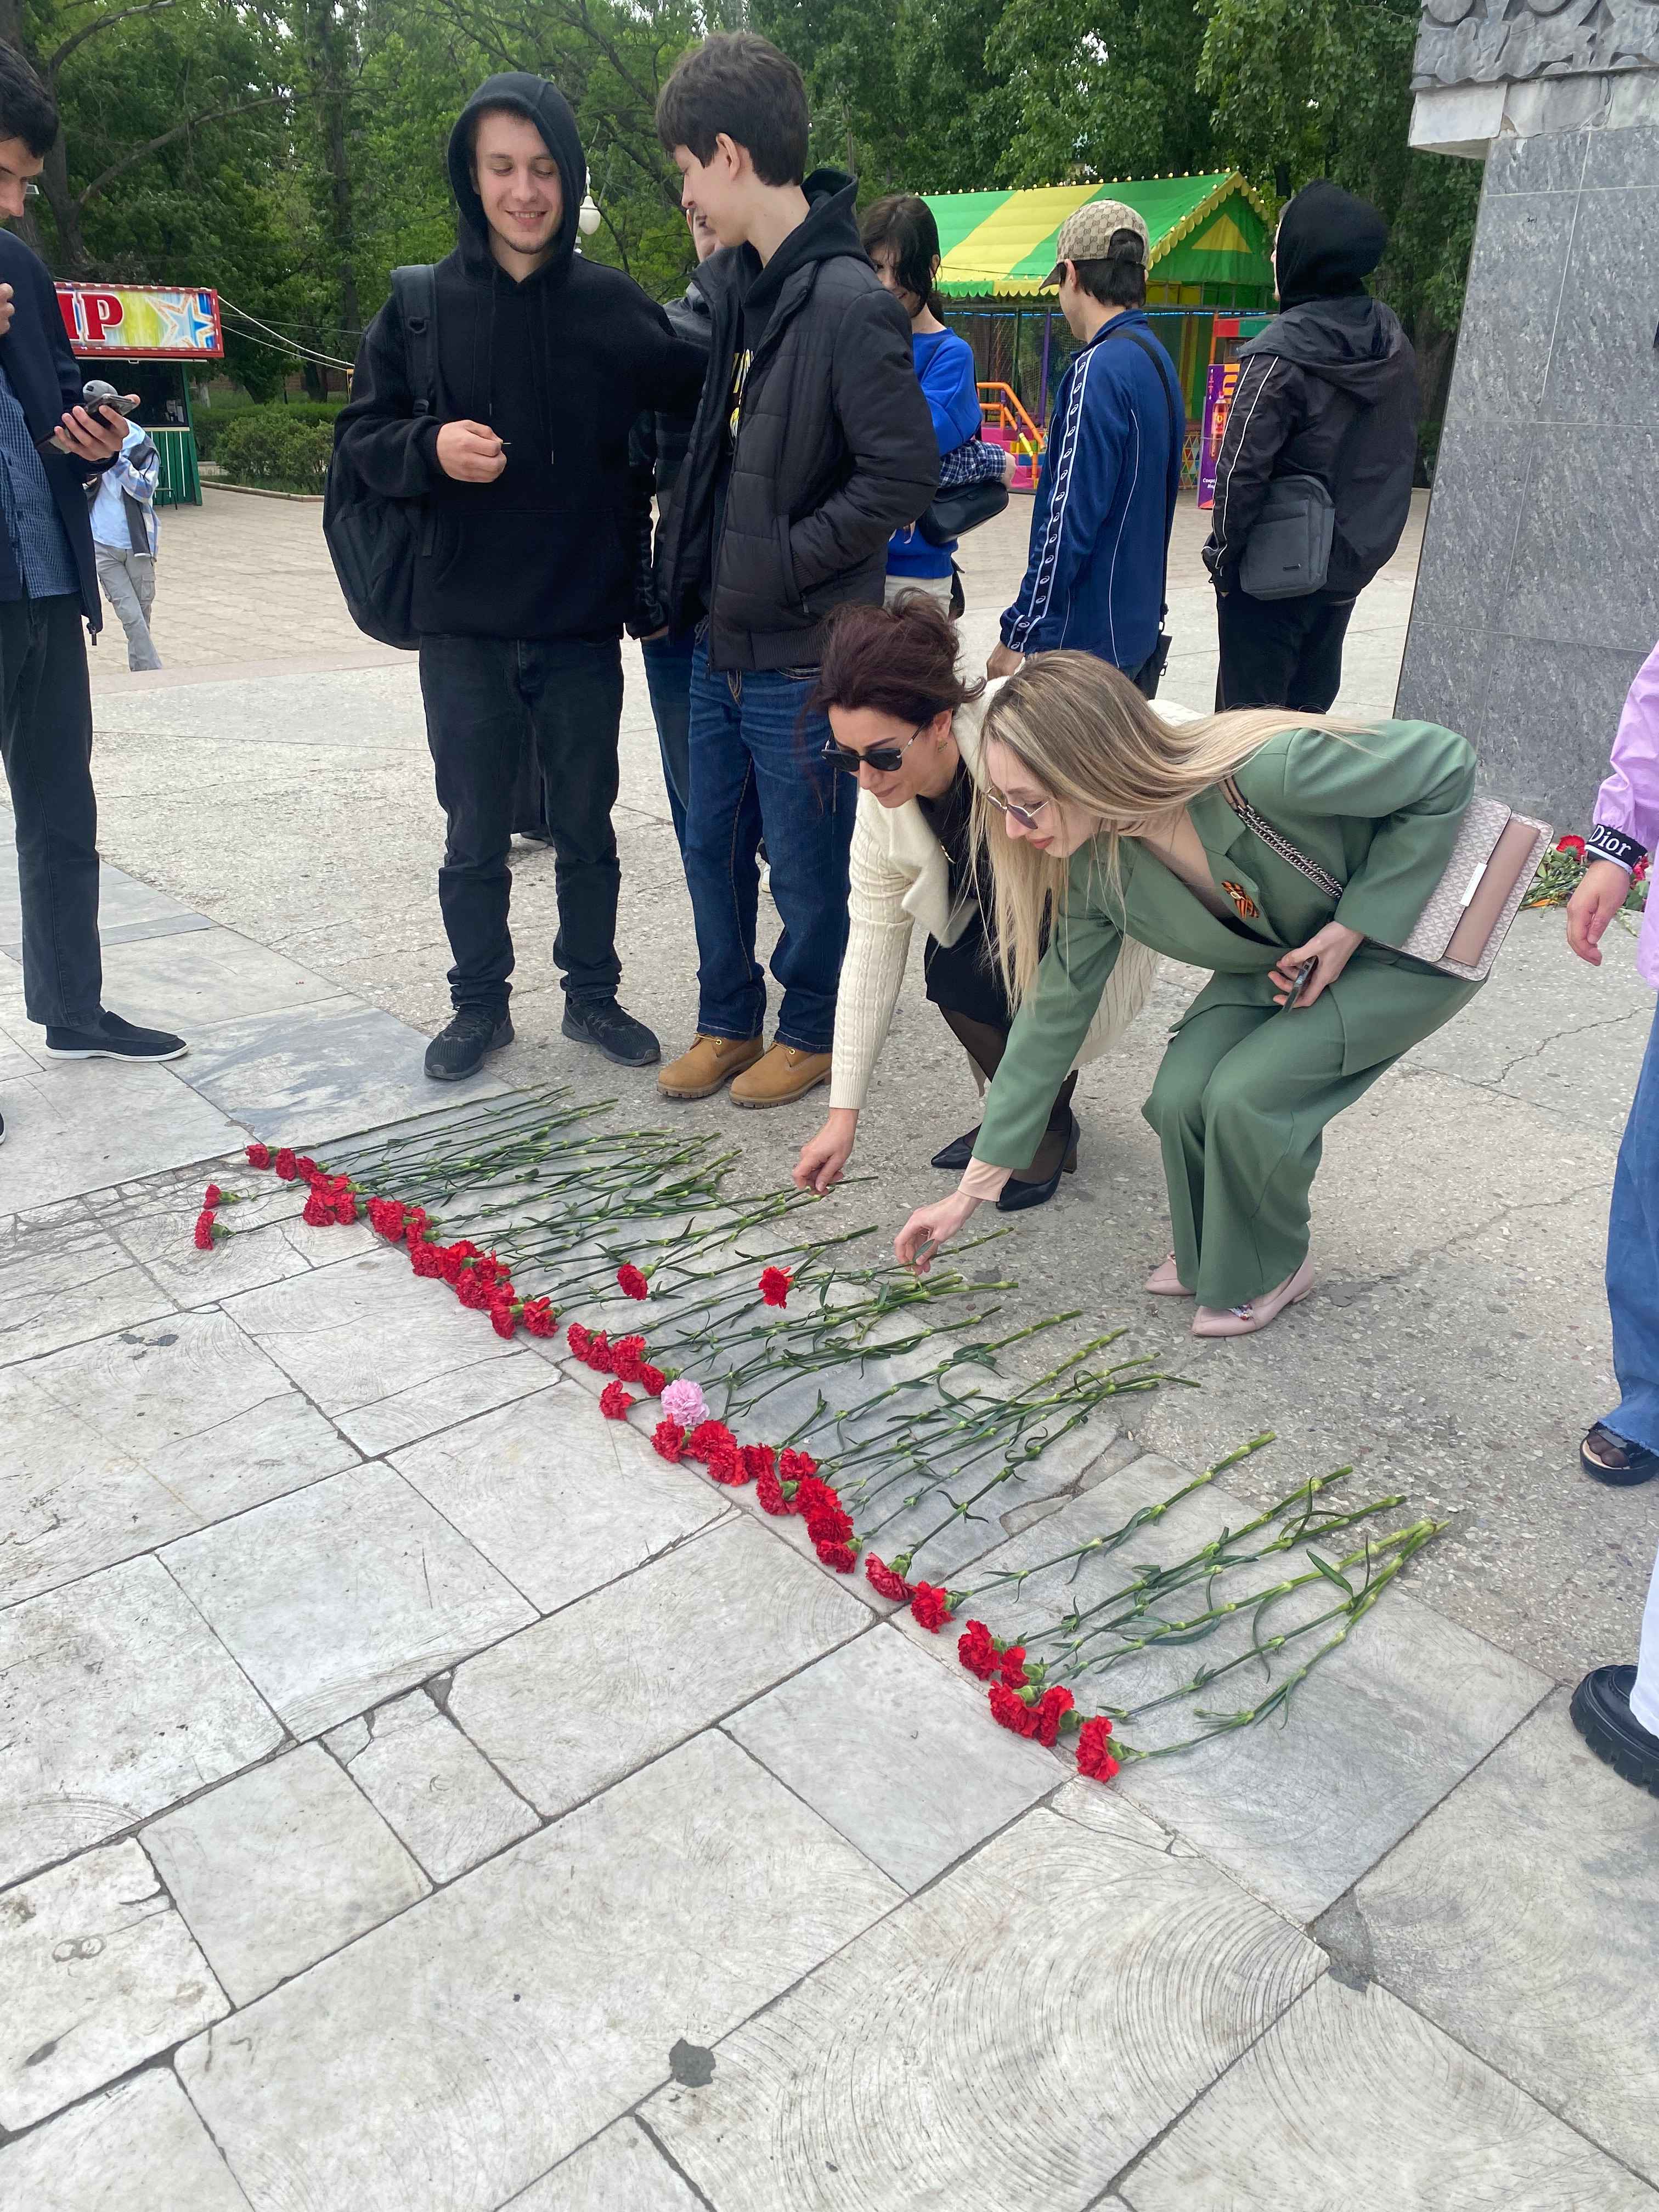
<svg viewBox="0 0 1659 2212">
<path fill-rule="evenodd" d="M 730 471 L 732 376 L 761 263 L 748 246 L 723 248 L 697 276 L 710 365 L 659 533 L 657 597 L 675 624 L 708 608 L 712 668 L 814 666 L 825 615 L 880 602 L 887 540 L 938 484 L 909 316 L 858 243 L 856 190 L 834 168 L 805 181 L 807 219 L 768 265 L 776 299 L 743 380 Z"/>
</svg>

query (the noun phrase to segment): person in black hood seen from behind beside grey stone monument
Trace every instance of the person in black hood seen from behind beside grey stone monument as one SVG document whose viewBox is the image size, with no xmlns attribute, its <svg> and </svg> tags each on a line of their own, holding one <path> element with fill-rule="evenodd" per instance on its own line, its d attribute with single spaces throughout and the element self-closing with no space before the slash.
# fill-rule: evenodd
<svg viewBox="0 0 1659 2212">
<path fill-rule="evenodd" d="M 1323 714 L 1343 681 L 1354 599 L 1400 542 L 1418 449 L 1418 365 L 1398 319 L 1365 290 L 1383 259 L 1376 208 L 1321 177 L 1274 241 L 1281 314 L 1239 349 L 1203 560 L 1217 588 L 1217 708 Z M 1329 568 L 1298 599 L 1239 582 L 1274 478 L 1312 476 L 1336 507 Z"/>
</svg>

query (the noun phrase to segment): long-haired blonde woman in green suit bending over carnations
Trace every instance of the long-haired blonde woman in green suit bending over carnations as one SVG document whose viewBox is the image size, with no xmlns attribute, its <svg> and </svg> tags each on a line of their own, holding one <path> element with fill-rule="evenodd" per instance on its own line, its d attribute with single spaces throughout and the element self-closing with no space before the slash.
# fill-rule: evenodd
<svg viewBox="0 0 1659 2212">
<path fill-rule="evenodd" d="M 1389 951 L 1444 874 L 1473 785 L 1471 745 L 1433 723 L 1250 710 L 1172 726 L 1091 655 L 1031 659 L 984 717 L 978 792 L 1020 1013 L 962 1183 L 909 1217 L 898 1259 L 927 1267 L 1031 1157 L 1130 940 L 1212 969 L 1144 1108 L 1175 1241 L 1146 1287 L 1197 1296 L 1194 1336 L 1250 1336 L 1305 1296 L 1325 1124 L 1478 989 Z M 1340 898 L 1274 852 L 1272 830 Z"/>
</svg>

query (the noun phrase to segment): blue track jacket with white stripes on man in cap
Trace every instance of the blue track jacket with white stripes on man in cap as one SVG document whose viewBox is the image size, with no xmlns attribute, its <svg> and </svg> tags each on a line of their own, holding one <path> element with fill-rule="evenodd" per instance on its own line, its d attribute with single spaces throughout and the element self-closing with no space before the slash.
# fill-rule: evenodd
<svg viewBox="0 0 1659 2212">
<path fill-rule="evenodd" d="M 1004 646 L 1068 646 L 1126 675 L 1150 659 L 1183 429 L 1175 365 L 1146 314 L 1130 307 L 1113 316 L 1060 378 L 1026 580 L 1002 617 Z"/>
</svg>

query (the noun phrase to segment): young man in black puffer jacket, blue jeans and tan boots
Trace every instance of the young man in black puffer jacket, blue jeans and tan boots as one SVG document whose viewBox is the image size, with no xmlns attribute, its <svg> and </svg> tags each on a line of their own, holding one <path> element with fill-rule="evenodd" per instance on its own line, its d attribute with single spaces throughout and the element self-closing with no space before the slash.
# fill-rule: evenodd
<svg viewBox="0 0 1659 2212">
<path fill-rule="evenodd" d="M 818 633 L 847 599 L 880 604 L 887 540 L 938 489 L 933 418 L 909 316 L 858 243 L 856 184 L 805 177 L 801 71 L 763 38 L 688 53 L 657 102 L 681 204 L 721 252 L 697 276 L 710 367 L 659 533 L 672 624 L 706 617 L 692 655 L 686 883 L 697 920 L 697 1037 L 657 1086 L 783 1106 L 830 1075 L 847 947 L 856 790 L 812 710 Z M 754 958 L 765 836 L 783 989 L 765 1048 Z"/>
</svg>

